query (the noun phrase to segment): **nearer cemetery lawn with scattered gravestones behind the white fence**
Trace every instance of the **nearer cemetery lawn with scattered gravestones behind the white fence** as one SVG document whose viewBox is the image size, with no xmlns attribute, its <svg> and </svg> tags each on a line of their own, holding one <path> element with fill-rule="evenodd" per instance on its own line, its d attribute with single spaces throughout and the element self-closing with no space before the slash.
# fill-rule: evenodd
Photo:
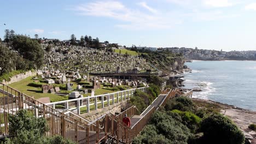
<svg viewBox="0 0 256 144">
<path fill-rule="evenodd" d="M 80 75 L 79 70 L 66 73 L 61 73 L 60 70 L 39 70 L 36 76 L 11 83 L 10 86 L 33 95 L 35 99 L 49 97 L 50 101 L 47 102 L 55 102 L 147 86 L 147 82 Z"/>
</svg>

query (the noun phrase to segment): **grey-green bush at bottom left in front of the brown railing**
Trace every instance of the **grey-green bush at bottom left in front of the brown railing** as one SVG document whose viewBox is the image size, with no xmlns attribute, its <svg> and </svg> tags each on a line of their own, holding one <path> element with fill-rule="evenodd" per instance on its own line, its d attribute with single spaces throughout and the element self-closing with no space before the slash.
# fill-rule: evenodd
<svg viewBox="0 0 256 144">
<path fill-rule="evenodd" d="M 38 144 L 74 144 L 71 140 L 64 140 L 62 136 L 46 137 L 48 131 L 46 119 L 36 118 L 26 110 L 19 110 L 16 115 L 9 116 L 10 137 L 6 144 L 15 143 L 38 143 Z"/>
</svg>

